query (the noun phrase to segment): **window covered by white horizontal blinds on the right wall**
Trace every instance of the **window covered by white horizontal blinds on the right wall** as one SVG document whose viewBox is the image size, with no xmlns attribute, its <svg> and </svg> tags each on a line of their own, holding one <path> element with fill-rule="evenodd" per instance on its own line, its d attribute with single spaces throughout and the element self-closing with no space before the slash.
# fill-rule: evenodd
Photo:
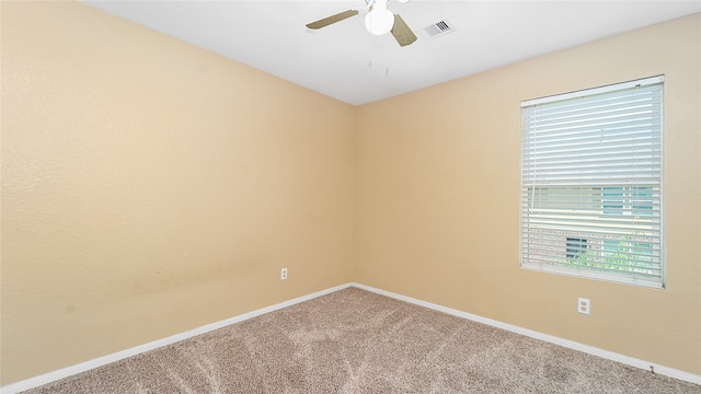
<svg viewBox="0 0 701 394">
<path fill-rule="evenodd" d="M 521 267 L 664 288 L 663 83 L 521 103 Z"/>
</svg>

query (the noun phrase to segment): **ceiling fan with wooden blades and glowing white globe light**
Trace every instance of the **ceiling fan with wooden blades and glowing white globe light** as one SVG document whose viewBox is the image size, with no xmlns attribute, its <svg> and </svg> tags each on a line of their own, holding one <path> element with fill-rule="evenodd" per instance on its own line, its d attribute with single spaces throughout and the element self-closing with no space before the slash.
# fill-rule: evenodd
<svg viewBox="0 0 701 394">
<path fill-rule="evenodd" d="M 392 33 L 400 46 L 406 46 L 416 40 L 416 35 L 409 27 L 406 22 L 399 14 L 393 14 L 387 9 L 390 0 L 365 0 L 368 13 L 365 15 L 365 27 L 375 35 Z M 398 0 L 407 2 L 409 0 Z M 359 13 L 358 10 L 348 10 L 337 14 L 326 16 L 315 22 L 307 24 L 308 28 L 317 30 L 341 22 Z"/>
</svg>

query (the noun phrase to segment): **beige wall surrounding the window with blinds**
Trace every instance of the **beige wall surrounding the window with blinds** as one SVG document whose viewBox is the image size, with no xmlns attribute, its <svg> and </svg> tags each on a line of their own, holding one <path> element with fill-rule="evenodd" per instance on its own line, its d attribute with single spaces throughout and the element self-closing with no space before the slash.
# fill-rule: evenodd
<svg viewBox="0 0 701 394">
<path fill-rule="evenodd" d="M 697 14 L 359 107 L 355 280 L 701 373 L 700 70 Z M 520 101 L 655 74 L 667 289 L 520 269 Z"/>
</svg>

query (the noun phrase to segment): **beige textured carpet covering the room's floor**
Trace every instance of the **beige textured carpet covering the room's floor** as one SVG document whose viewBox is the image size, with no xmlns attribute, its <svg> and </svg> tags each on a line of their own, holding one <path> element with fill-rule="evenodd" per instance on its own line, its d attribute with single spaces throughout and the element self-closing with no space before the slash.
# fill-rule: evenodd
<svg viewBox="0 0 701 394">
<path fill-rule="evenodd" d="M 357 288 L 26 393 L 701 393 Z"/>
</svg>

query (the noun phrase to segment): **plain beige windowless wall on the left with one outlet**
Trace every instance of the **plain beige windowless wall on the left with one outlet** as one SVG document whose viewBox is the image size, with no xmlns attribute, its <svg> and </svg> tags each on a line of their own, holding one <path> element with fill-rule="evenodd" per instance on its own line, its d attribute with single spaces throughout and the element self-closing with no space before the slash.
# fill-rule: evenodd
<svg viewBox="0 0 701 394">
<path fill-rule="evenodd" d="M 350 281 L 355 112 L 3 1 L 2 384 Z"/>
</svg>

